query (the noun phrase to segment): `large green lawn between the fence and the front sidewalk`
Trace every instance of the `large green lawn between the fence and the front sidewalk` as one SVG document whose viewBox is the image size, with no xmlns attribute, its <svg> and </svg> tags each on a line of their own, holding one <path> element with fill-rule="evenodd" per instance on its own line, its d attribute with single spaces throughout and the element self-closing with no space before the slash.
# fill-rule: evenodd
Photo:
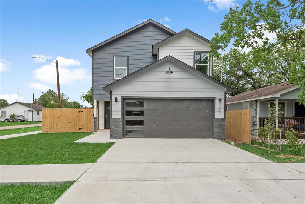
<svg viewBox="0 0 305 204">
<path fill-rule="evenodd" d="M 0 140 L 0 165 L 96 162 L 114 143 L 73 143 L 92 132 L 38 133 Z"/>
</svg>

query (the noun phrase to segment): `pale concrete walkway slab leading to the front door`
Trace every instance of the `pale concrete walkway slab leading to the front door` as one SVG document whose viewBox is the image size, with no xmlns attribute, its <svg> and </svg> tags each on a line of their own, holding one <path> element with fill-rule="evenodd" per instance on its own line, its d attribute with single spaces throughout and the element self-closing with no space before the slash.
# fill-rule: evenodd
<svg viewBox="0 0 305 204">
<path fill-rule="evenodd" d="M 110 130 L 98 130 L 98 132 L 74 141 L 74 143 L 110 143 L 116 142 L 118 139 L 110 139 Z"/>
</svg>

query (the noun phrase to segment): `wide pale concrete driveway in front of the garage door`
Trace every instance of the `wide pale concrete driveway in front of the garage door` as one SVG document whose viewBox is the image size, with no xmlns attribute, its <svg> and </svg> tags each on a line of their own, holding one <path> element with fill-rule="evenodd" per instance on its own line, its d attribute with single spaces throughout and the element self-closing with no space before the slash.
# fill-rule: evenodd
<svg viewBox="0 0 305 204">
<path fill-rule="evenodd" d="M 300 169 L 215 139 L 119 139 L 56 203 L 304 203 Z"/>
</svg>

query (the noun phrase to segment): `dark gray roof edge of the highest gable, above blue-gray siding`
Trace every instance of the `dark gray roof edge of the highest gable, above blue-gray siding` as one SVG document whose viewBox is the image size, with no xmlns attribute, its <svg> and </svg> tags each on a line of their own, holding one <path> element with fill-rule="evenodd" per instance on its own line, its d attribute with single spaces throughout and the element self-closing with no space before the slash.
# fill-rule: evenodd
<svg viewBox="0 0 305 204">
<path fill-rule="evenodd" d="M 97 45 L 95 45 L 95 46 L 92 46 L 92 47 L 88 48 L 88 49 L 86 50 L 86 52 L 87 52 L 87 53 L 91 53 L 92 50 L 95 50 L 95 49 L 97 49 L 97 48 L 99 48 L 99 47 L 101 47 L 101 46 L 103 46 L 103 45 L 105 45 L 105 44 L 107 44 L 107 43 L 110 43 L 111 41 L 113 41 L 113 40 L 115 40 L 115 39 L 118 39 L 118 38 L 120 38 L 120 37 L 122 37 L 122 36 L 124 36 L 124 35 L 127 35 L 127 34 L 129 34 L 130 32 L 133 32 L 134 30 L 139 29 L 140 27 L 145 26 L 145 25 L 147 25 L 147 24 L 155 24 L 156 26 L 159 26 L 160 28 L 162 28 L 163 30 L 165 30 L 165 31 L 168 32 L 168 33 L 171 33 L 171 34 L 173 34 L 173 35 L 177 34 L 177 33 L 174 32 L 173 30 L 171 30 L 171 29 L 165 27 L 164 25 L 162 25 L 162 24 L 156 22 L 155 20 L 149 19 L 149 20 L 144 21 L 143 23 L 140 23 L 140 24 L 138 24 L 138 25 L 132 27 L 132 28 L 129 28 L 128 30 L 126 30 L 126 31 L 124 31 L 124 32 L 121 32 L 120 34 L 117 34 L 117 35 L 113 36 L 112 38 L 109 38 L 109 39 L 103 41 L 102 43 L 99 43 L 99 44 L 97 44 Z"/>
</svg>

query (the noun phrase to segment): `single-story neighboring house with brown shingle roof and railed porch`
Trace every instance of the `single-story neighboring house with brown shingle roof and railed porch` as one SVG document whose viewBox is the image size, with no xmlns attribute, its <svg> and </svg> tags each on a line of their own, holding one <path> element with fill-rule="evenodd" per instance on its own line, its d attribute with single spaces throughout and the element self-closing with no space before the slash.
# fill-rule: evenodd
<svg viewBox="0 0 305 204">
<path fill-rule="evenodd" d="M 278 107 L 280 113 L 278 124 L 284 130 L 294 128 L 299 132 L 304 132 L 302 126 L 305 124 L 305 106 L 296 101 L 300 91 L 300 87 L 293 83 L 283 82 L 227 98 L 226 109 L 249 109 L 252 135 L 257 135 L 257 129 L 264 125 L 264 120 L 268 118 L 268 104 Z M 295 121 L 296 123 L 293 124 Z"/>
</svg>

